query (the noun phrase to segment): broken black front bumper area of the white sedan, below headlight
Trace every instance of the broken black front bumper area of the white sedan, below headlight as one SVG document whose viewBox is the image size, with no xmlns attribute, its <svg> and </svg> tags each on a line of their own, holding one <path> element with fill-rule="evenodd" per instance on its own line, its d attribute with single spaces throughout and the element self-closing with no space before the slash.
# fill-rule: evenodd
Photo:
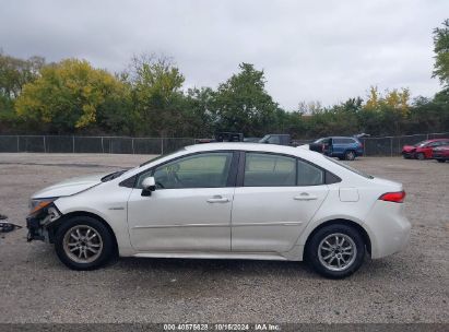
<svg viewBox="0 0 449 332">
<path fill-rule="evenodd" d="M 55 204 L 50 204 L 39 211 L 37 214 L 31 214 L 26 217 L 26 228 L 28 234 L 26 240 L 42 240 L 51 244 L 54 241 L 52 225 L 61 217 L 61 213 Z"/>
</svg>

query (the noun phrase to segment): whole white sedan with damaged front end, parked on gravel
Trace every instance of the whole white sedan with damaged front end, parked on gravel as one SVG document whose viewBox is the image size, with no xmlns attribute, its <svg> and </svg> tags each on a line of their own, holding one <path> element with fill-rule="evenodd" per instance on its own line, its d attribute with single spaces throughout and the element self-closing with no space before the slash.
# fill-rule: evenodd
<svg viewBox="0 0 449 332">
<path fill-rule="evenodd" d="M 402 185 L 305 149 L 187 146 L 127 171 L 67 180 L 31 200 L 28 240 L 71 269 L 121 257 L 307 260 L 329 277 L 401 250 Z"/>
</svg>

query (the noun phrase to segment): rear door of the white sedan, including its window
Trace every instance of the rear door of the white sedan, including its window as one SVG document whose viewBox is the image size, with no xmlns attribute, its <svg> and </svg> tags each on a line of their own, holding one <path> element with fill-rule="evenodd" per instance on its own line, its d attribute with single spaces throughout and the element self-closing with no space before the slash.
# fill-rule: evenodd
<svg viewBox="0 0 449 332">
<path fill-rule="evenodd" d="M 293 156 L 247 152 L 239 173 L 232 250 L 291 250 L 328 194 L 324 171 Z"/>
</svg>

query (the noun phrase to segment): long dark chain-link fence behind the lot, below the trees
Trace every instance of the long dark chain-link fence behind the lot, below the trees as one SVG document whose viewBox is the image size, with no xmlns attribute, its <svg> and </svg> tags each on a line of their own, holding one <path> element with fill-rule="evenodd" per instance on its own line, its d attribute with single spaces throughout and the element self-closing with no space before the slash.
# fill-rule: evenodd
<svg viewBox="0 0 449 332">
<path fill-rule="evenodd" d="M 364 138 L 361 141 L 365 156 L 397 156 L 403 145 L 438 138 L 449 138 L 449 132 Z M 164 154 L 196 142 L 193 138 L 0 135 L 0 152 Z"/>
</svg>

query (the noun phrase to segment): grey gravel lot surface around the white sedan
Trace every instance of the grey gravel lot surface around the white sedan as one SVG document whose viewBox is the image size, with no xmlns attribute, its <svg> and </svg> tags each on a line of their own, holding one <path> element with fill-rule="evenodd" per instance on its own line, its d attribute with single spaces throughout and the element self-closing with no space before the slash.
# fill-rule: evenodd
<svg viewBox="0 0 449 332">
<path fill-rule="evenodd" d="M 24 225 L 51 182 L 131 167 L 143 155 L 0 154 L 0 213 Z M 361 158 L 404 183 L 409 247 L 326 280 L 305 263 L 119 259 L 74 272 L 25 229 L 0 238 L 0 322 L 449 322 L 449 163 Z"/>
</svg>

